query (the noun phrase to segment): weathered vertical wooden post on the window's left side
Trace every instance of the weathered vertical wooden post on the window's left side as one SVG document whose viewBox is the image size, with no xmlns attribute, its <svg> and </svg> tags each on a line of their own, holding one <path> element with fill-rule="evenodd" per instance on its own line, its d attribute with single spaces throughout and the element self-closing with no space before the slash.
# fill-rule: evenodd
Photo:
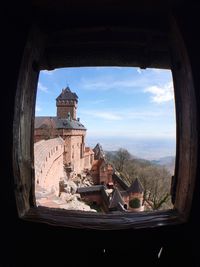
<svg viewBox="0 0 200 267">
<path fill-rule="evenodd" d="M 19 217 L 35 204 L 33 127 L 43 42 L 42 35 L 34 28 L 24 50 L 15 98 L 13 170 Z"/>
</svg>

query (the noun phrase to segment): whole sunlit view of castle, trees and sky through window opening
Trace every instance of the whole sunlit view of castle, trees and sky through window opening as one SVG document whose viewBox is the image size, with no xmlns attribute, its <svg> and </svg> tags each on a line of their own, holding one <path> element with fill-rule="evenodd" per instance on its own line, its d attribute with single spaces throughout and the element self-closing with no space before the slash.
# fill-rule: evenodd
<svg viewBox="0 0 200 267">
<path fill-rule="evenodd" d="M 175 137 L 170 70 L 41 71 L 37 206 L 103 213 L 171 209 Z"/>
</svg>

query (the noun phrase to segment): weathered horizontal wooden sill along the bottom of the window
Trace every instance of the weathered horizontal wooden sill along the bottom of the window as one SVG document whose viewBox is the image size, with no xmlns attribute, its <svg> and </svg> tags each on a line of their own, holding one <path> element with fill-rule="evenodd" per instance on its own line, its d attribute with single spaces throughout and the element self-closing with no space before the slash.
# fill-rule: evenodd
<svg viewBox="0 0 200 267">
<path fill-rule="evenodd" d="M 181 217 L 175 210 L 97 214 L 38 207 L 30 209 L 23 219 L 54 226 L 95 230 L 148 229 L 182 223 Z"/>
</svg>

